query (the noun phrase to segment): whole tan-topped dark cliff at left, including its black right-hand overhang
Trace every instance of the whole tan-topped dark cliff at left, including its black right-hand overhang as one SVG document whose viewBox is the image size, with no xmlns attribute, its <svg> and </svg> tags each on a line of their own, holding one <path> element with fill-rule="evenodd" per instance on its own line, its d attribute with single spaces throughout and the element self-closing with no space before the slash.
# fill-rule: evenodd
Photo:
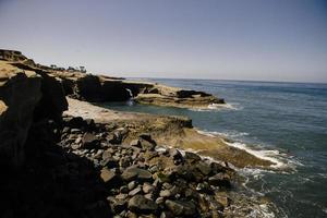
<svg viewBox="0 0 327 218">
<path fill-rule="evenodd" d="M 60 83 L 46 72 L 23 70 L 0 61 L 0 161 L 24 162 L 28 131 L 37 120 L 60 120 L 68 108 Z"/>
</svg>

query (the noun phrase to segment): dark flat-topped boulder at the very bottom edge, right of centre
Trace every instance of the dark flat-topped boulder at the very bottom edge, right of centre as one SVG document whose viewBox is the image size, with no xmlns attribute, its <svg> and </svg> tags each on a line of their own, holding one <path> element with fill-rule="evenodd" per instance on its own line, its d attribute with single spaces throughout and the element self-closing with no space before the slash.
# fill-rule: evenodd
<svg viewBox="0 0 327 218">
<path fill-rule="evenodd" d="M 166 201 L 167 208 L 175 216 L 194 216 L 196 207 L 192 202 Z"/>
</svg>

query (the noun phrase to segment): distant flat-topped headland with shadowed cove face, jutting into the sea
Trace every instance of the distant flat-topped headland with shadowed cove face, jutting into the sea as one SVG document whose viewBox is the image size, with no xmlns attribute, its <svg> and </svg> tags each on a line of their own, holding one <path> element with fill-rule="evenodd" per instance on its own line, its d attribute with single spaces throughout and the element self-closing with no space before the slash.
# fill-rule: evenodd
<svg viewBox="0 0 327 218">
<path fill-rule="evenodd" d="M 186 90 L 157 83 L 110 78 L 78 72 L 53 72 L 63 81 L 65 93 L 76 99 L 88 101 L 125 101 L 179 108 L 207 108 L 211 104 L 225 104 L 204 92 Z"/>
</svg>

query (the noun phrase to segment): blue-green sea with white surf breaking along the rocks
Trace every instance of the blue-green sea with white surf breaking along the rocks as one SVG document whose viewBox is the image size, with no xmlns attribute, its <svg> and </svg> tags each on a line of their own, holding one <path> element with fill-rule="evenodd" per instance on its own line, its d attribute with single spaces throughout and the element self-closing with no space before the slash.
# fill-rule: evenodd
<svg viewBox="0 0 327 218">
<path fill-rule="evenodd" d="M 274 158 L 278 171 L 243 170 L 247 189 L 278 207 L 276 217 L 327 217 L 327 84 L 152 80 L 222 97 L 228 108 L 107 107 L 192 118 L 193 125 Z"/>
</svg>

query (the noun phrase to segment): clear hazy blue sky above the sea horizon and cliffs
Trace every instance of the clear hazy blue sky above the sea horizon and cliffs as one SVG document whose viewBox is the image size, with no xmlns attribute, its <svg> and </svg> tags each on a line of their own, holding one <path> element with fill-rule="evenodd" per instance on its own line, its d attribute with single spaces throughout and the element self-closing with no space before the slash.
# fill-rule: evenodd
<svg viewBox="0 0 327 218">
<path fill-rule="evenodd" d="M 327 82 L 326 0 L 0 0 L 0 29 L 93 73 Z"/>
</svg>

